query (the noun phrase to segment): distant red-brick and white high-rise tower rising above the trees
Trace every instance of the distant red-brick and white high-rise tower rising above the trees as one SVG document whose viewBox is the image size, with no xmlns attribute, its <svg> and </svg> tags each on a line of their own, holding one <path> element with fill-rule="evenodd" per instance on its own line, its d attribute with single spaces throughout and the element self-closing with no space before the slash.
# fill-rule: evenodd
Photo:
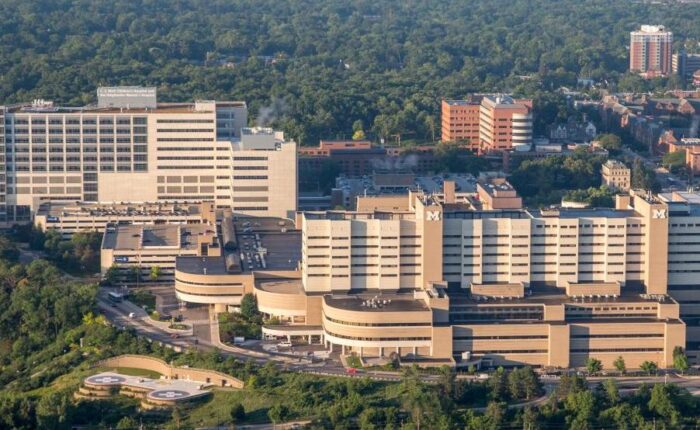
<svg viewBox="0 0 700 430">
<path fill-rule="evenodd" d="M 630 33 L 630 72 L 646 78 L 671 74 L 673 33 L 663 25 L 643 25 Z"/>
</svg>

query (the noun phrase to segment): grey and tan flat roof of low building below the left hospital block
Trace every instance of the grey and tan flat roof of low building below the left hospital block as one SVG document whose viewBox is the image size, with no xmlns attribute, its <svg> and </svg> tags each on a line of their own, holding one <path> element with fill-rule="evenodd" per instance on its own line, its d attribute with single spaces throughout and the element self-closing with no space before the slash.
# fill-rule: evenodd
<svg viewBox="0 0 700 430">
<path fill-rule="evenodd" d="M 177 248 L 195 250 L 197 240 L 193 236 L 211 234 L 213 227 L 207 224 L 156 224 L 117 225 L 105 230 L 102 249 L 139 250 L 148 248 Z"/>
</svg>

